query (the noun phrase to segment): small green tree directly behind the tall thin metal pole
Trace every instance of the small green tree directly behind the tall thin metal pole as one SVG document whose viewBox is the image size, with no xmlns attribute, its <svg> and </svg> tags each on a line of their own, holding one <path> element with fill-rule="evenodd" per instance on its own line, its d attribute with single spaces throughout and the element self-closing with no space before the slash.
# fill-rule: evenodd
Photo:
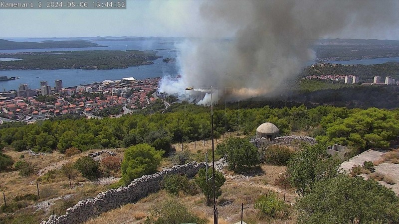
<svg viewBox="0 0 399 224">
<path fill-rule="evenodd" d="M 205 169 L 200 169 L 196 176 L 196 183 L 202 190 L 202 193 L 206 197 L 206 204 L 210 205 L 211 200 L 213 200 L 213 180 L 207 180 L 206 177 L 209 179 L 212 177 L 212 169 L 208 169 L 208 173 L 206 176 Z M 217 199 L 221 195 L 221 186 L 223 186 L 226 179 L 224 178 L 223 174 L 219 171 L 215 170 L 215 199 Z"/>
</svg>

